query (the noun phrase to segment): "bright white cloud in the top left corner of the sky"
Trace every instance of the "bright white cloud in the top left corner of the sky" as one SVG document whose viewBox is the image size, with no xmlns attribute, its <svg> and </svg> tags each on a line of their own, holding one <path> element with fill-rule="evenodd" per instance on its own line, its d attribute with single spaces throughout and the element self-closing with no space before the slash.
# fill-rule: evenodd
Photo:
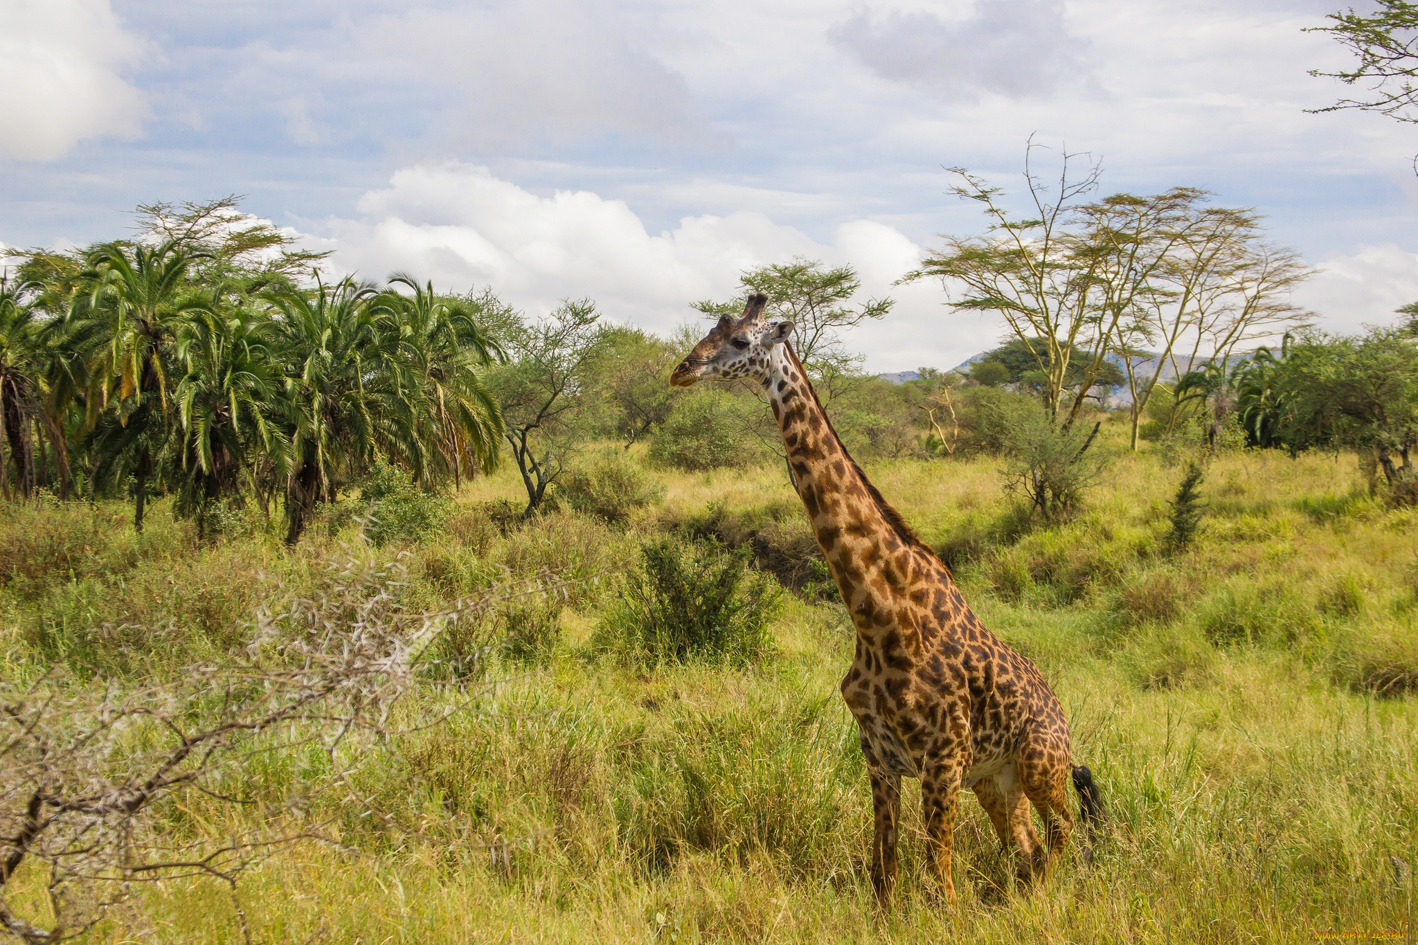
<svg viewBox="0 0 1418 945">
<path fill-rule="evenodd" d="M 0 156 L 50 160 L 133 137 L 146 101 L 122 74 L 143 57 L 109 0 L 0 0 Z"/>
</svg>

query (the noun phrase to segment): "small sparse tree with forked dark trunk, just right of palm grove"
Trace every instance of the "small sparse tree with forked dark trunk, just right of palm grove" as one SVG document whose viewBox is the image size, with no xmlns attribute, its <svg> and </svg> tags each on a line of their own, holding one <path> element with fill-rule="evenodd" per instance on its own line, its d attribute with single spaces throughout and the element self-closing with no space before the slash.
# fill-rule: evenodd
<svg viewBox="0 0 1418 945">
<path fill-rule="evenodd" d="M 600 313 L 590 299 L 564 299 L 550 316 L 533 323 L 503 322 L 499 339 L 509 363 L 491 373 L 502 404 L 503 436 L 527 490 L 530 516 L 562 475 L 573 448 L 573 422 L 587 391 L 587 368 L 604 343 Z"/>
</svg>

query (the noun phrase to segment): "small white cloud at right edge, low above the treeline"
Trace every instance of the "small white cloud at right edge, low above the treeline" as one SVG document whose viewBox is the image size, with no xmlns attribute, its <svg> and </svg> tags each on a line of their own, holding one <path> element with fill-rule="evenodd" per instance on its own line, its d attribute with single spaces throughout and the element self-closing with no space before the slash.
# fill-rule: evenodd
<svg viewBox="0 0 1418 945">
<path fill-rule="evenodd" d="M 1316 276 L 1295 292 L 1295 302 L 1314 310 L 1326 332 L 1361 332 L 1366 324 L 1394 324 L 1398 306 L 1418 302 L 1418 254 L 1388 242 L 1361 247 L 1319 264 Z"/>
</svg>

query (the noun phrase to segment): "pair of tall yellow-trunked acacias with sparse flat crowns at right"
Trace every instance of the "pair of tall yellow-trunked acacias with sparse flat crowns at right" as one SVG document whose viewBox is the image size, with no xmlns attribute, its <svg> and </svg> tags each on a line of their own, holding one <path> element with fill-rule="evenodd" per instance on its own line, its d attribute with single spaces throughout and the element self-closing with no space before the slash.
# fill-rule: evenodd
<svg viewBox="0 0 1418 945">
<path fill-rule="evenodd" d="M 1064 154 L 1048 188 L 1029 170 L 1031 211 L 1008 214 L 1001 190 L 956 169 L 953 193 L 991 220 L 981 237 L 946 237 L 942 252 L 903 281 L 940 278 L 957 310 L 998 312 L 1012 346 L 1034 361 L 1045 414 L 1068 432 L 1095 384 L 1117 360 L 1132 394 L 1132 446 L 1167 368 L 1184 375 L 1207 357 L 1227 358 L 1245 340 L 1300 320 L 1290 289 L 1307 269 L 1262 241 L 1248 210 L 1205 207 L 1207 191 L 1173 187 L 1140 197 L 1083 197 L 1099 169 L 1069 177 Z M 1147 350 L 1153 347 L 1156 350 Z M 1015 371 L 1014 375 L 1018 373 Z"/>
</svg>

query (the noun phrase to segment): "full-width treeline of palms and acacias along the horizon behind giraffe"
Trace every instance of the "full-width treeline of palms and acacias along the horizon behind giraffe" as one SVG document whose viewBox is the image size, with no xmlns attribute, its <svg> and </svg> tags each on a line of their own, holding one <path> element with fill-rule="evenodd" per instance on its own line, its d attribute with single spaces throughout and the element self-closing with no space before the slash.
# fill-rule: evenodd
<svg viewBox="0 0 1418 945">
<path fill-rule="evenodd" d="M 1071 509 L 1096 476 L 1085 453 L 1119 387 L 1133 394 L 1134 448 L 1218 436 L 1356 448 L 1395 496 L 1411 489 L 1412 324 L 1353 339 L 1299 330 L 1251 357 L 1241 341 L 1296 322 L 1283 289 L 1302 275 L 1259 239 L 1254 215 L 1207 208 L 1198 191 L 1069 208 L 1061 187 L 1055 204 L 1035 191 L 1044 222 L 1018 222 L 980 186 L 971 196 L 997 214 L 993 234 L 951 239 L 915 273 L 963 283 L 956 307 L 1004 315 L 1011 337 L 966 374 L 866 375 L 842 332 L 892 300 L 858 299 L 851 266 L 759 266 L 740 298 L 695 307 L 713 317 L 769 293 L 855 455 L 1003 455 L 1007 480 L 1045 514 Z M 284 517 L 294 544 L 342 496 L 432 494 L 503 459 L 520 473 L 525 514 L 566 502 L 615 517 L 644 485 L 624 462 L 638 443 L 651 465 L 682 470 L 783 456 L 759 391 L 669 388 L 695 326 L 658 337 L 610 324 L 590 299 L 527 319 L 492 290 L 442 295 L 397 273 L 325 282 L 312 275 L 322 254 L 234 198 L 145 205 L 136 221 L 128 239 L 13 258 L 0 285 L 4 497 L 128 497 L 142 528 L 146 503 L 173 496 L 199 537 L 254 503 L 267 521 Z M 1144 375 L 1134 343 L 1154 339 L 1163 350 Z M 1215 350 L 1201 354 L 1201 339 Z M 1161 380 L 1164 364 L 1176 380 Z"/>
</svg>

